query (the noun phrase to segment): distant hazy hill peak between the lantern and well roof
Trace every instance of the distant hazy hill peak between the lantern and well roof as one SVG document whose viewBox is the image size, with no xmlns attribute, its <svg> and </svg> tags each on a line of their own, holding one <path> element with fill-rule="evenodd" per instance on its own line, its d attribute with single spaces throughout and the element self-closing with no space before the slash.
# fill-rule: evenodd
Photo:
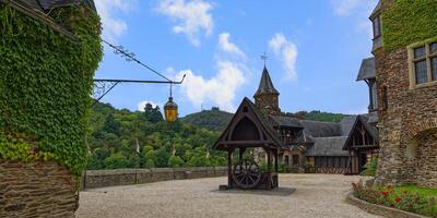
<svg viewBox="0 0 437 218">
<path fill-rule="evenodd" d="M 198 128 L 223 131 L 231 122 L 234 113 L 221 111 L 218 108 L 213 107 L 211 110 L 202 110 L 201 112 L 188 114 L 181 118 L 181 120 Z"/>
</svg>

